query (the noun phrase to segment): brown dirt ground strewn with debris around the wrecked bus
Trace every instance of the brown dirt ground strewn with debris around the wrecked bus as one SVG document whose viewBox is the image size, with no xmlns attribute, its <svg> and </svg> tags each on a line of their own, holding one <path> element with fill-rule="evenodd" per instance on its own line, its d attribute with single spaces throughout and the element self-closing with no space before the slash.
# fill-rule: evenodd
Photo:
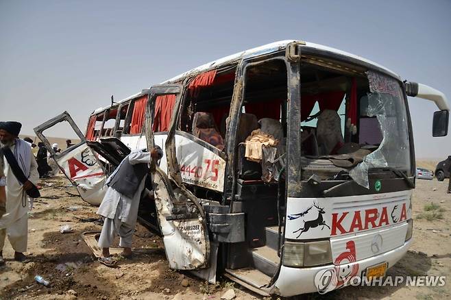
<svg viewBox="0 0 451 300">
<path fill-rule="evenodd" d="M 119 268 L 108 268 L 93 259 L 82 232 L 100 230 L 94 223 L 96 208 L 77 196 L 62 177 L 40 182 L 42 197 L 29 212 L 29 262 L 12 260 L 9 242 L 3 249 L 6 265 L 0 268 L 0 299 L 221 299 L 231 288 L 236 299 L 261 297 L 219 279 L 206 284 L 190 273 L 169 269 L 162 241 L 141 225 L 134 236 L 132 260 L 121 260 Z M 417 180 L 413 197 L 414 233 L 409 252 L 389 269 L 389 275 L 451 274 L 451 194 L 445 182 Z M 430 205 L 433 202 L 435 205 Z M 439 206 L 437 206 L 439 205 Z M 62 225 L 73 232 L 60 233 Z M 41 275 L 51 282 L 45 287 L 34 282 Z M 186 286 L 186 280 L 188 286 Z M 448 278 L 447 278 L 448 279 Z M 451 277 L 450 277 L 451 279 Z M 185 286 L 182 285 L 184 281 Z M 439 287 L 347 287 L 306 299 L 450 299 L 451 284 Z M 273 297 L 278 299 L 278 297 Z"/>
</svg>

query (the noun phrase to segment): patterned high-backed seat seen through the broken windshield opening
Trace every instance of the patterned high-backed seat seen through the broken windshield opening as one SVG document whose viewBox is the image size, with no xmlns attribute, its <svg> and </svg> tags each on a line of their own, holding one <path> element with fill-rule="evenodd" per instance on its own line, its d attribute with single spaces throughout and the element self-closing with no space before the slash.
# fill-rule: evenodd
<svg viewBox="0 0 451 300">
<path fill-rule="evenodd" d="M 341 120 L 335 110 L 324 110 L 318 117 L 317 141 L 319 155 L 332 154 L 337 146 L 344 145 Z"/>
</svg>

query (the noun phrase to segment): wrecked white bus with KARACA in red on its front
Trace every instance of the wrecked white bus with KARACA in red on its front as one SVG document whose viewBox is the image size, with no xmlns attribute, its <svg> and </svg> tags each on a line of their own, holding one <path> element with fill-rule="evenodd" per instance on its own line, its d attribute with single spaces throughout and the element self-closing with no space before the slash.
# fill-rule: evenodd
<svg viewBox="0 0 451 300">
<path fill-rule="evenodd" d="M 415 155 L 407 96 L 446 97 L 374 62 L 282 41 L 199 66 L 90 116 L 49 151 L 90 203 L 130 149 L 159 145 L 140 221 L 171 268 L 217 273 L 260 295 L 300 295 L 379 277 L 411 243 Z M 48 142 L 47 142 L 48 144 Z M 96 154 L 95 154 L 96 153 Z M 70 161 L 70 162 L 69 162 Z M 69 162 L 69 163 L 68 163 Z"/>
</svg>

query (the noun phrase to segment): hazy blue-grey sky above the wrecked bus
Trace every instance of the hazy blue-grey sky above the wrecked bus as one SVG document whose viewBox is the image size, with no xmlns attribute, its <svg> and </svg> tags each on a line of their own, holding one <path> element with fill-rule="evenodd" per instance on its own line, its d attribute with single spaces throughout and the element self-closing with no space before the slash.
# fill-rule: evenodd
<svg viewBox="0 0 451 300">
<path fill-rule="evenodd" d="M 90 112 L 111 95 L 124 99 L 286 39 L 361 55 L 451 100 L 450 13 L 450 0 L 0 0 L 0 120 L 21 121 L 22 134 L 33 134 L 66 110 L 84 132 Z M 416 157 L 450 155 L 451 132 L 432 138 L 435 104 L 410 98 L 409 105 Z"/>
</svg>

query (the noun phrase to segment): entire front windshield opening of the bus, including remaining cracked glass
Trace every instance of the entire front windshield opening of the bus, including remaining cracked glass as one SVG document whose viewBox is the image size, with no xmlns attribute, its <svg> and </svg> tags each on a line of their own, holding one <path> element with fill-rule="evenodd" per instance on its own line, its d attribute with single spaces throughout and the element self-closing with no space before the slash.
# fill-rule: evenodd
<svg viewBox="0 0 451 300">
<path fill-rule="evenodd" d="M 377 71 L 354 71 L 351 75 L 302 64 L 303 180 L 311 175 L 333 180 L 340 179 L 337 174 L 348 174 L 369 188 L 368 173 L 373 168 L 412 175 L 409 119 L 401 83 Z"/>
</svg>

